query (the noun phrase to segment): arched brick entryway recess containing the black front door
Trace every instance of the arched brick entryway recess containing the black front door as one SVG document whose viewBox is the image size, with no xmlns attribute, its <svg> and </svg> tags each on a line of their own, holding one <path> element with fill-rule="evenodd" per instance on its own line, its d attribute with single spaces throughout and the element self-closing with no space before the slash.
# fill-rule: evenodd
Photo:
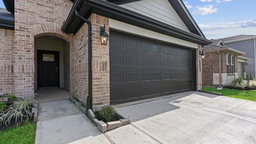
<svg viewBox="0 0 256 144">
<path fill-rule="evenodd" d="M 35 36 L 35 90 L 39 102 L 68 99 L 70 43 L 54 35 Z"/>
</svg>

